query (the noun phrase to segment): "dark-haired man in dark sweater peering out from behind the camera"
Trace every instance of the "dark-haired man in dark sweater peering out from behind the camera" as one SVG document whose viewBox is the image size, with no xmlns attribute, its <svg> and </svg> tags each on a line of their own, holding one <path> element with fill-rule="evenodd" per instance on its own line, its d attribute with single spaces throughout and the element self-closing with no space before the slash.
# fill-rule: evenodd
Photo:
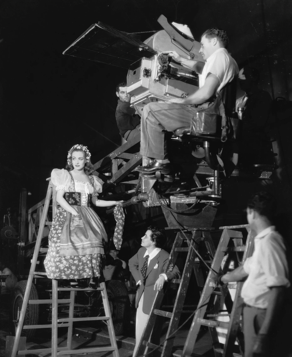
<svg viewBox="0 0 292 357">
<path fill-rule="evenodd" d="M 140 133 L 140 116 L 137 115 L 135 108 L 130 107 L 131 96 L 127 93 L 127 84 L 118 84 L 116 90 L 119 98 L 116 109 L 118 129 L 125 140 L 130 140 Z"/>
</svg>

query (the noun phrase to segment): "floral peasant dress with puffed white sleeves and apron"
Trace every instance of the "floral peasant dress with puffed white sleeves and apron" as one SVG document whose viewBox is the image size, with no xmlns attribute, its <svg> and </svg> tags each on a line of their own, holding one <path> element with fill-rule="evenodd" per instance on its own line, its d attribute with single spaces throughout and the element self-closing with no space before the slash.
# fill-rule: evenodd
<svg viewBox="0 0 292 357">
<path fill-rule="evenodd" d="M 65 190 L 65 200 L 79 213 L 72 216 L 59 207 L 49 234 L 44 261 L 50 279 L 99 277 L 104 266 L 107 234 L 102 221 L 89 206 L 90 196 L 102 191 L 102 181 L 89 175 L 89 182 L 74 181 L 67 170 L 54 169 L 51 180 L 56 190 Z"/>
</svg>

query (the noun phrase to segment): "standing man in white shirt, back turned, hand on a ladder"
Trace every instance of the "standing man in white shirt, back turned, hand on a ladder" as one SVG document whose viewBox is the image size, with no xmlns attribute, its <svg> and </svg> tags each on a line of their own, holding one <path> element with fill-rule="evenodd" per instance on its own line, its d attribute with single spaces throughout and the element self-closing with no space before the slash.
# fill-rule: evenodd
<svg viewBox="0 0 292 357">
<path fill-rule="evenodd" d="M 245 302 L 245 357 L 284 356 L 272 343 L 290 286 L 286 248 L 282 236 L 272 225 L 275 210 L 276 202 L 268 193 L 259 192 L 253 196 L 247 205 L 248 223 L 257 234 L 253 255 L 242 266 L 214 279 L 226 284 L 247 278 L 241 292 Z M 278 337 L 276 341 L 280 342 Z"/>
</svg>

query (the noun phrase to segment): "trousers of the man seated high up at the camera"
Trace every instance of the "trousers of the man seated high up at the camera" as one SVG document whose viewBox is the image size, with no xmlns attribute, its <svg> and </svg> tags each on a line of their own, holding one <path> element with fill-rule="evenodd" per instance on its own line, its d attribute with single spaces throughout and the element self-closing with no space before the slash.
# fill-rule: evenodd
<svg viewBox="0 0 292 357">
<path fill-rule="evenodd" d="M 155 159 L 167 158 L 165 131 L 190 127 L 198 109 L 175 103 L 149 103 L 141 117 L 140 154 Z"/>
</svg>

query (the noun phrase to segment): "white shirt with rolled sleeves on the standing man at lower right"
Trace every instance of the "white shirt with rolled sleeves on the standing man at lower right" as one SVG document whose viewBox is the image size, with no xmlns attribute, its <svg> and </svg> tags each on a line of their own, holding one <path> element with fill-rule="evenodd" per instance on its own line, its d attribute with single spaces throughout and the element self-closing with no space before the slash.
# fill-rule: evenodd
<svg viewBox="0 0 292 357">
<path fill-rule="evenodd" d="M 286 248 L 282 236 L 270 226 L 254 238 L 253 255 L 244 262 L 248 273 L 241 296 L 250 306 L 266 309 L 271 287 L 289 287 Z"/>
</svg>

